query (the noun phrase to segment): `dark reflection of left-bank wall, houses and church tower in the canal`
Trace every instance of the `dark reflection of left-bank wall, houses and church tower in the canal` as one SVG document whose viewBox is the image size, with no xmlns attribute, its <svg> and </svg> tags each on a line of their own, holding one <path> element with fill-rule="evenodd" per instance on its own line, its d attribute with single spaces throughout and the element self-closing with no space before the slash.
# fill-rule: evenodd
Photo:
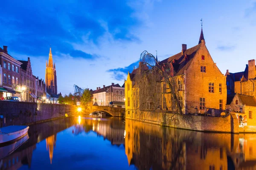
<svg viewBox="0 0 256 170">
<path fill-rule="evenodd" d="M 36 144 L 47 139 L 50 160 L 55 147 L 56 134 L 72 125 L 72 119 L 57 119 L 43 122 L 36 125 L 29 125 L 29 139 L 17 148 L 12 154 L 0 160 L 0 170 L 17 170 L 23 165 L 30 168 L 32 153 L 36 149 Z M 2 161 L 2 163 L 1 163 Z"/>
</svg>

